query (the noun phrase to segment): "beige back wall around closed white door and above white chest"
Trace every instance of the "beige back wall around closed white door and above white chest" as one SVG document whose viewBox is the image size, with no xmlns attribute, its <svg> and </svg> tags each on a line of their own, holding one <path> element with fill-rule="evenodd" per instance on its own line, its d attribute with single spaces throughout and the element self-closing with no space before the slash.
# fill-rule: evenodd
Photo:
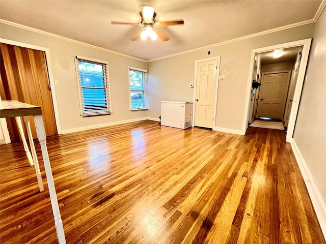
<svg viewBox="0 0 326 244">
<path fill-rule="evenodd" d="M 189 88 L 189 84 L 194 82 L 195 60 L 221 56 L 220 75 L 226 75 L 226 80 L 219 81 L 215 126 L 240 131 L 245 110 L 251 50 L 311 38 L 313 30 L 314 24 L 303 25 L 148 63 L 148 116 L 160 115 L 161 101 L 193 101 L 193 89 Z M 211 51 L 210 56 L 206 54 L 208 50 Z"/>
</svg>

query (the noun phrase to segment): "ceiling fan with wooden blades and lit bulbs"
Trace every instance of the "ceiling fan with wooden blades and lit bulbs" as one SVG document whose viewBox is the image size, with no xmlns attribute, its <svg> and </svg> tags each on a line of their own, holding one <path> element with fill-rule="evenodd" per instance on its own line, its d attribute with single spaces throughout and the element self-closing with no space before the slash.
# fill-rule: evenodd
<svg viewBox="0 0 326 244">
<path fill-rule="evenodd" d="M 156 40 L 157 36 L 161 38 L 163 41 L 168 41 L 170 38 L 159 31 L 158 27 L 166 27 L 169 25 L 175 24 L 183 24 L 184 21 L 175 20 L 175 21 L 161 21 L 158 22 L 155 17 L 156 13 L 154 12 L 154 8 L 150 6 L 143 6 L 141 15 L 141 22 L 140 23 L 129 23 L 129 22 L 116 22 L 111 21 L 112 24 L 129 24 L 135 26 L 141 26 L 142 29 L 132 38 L 132 41 L 137 40 L 138 38 L 142 38 L 143 40 L 147 40 L 147 38 L 151 38 L 152 40 Z"/>
</svg>

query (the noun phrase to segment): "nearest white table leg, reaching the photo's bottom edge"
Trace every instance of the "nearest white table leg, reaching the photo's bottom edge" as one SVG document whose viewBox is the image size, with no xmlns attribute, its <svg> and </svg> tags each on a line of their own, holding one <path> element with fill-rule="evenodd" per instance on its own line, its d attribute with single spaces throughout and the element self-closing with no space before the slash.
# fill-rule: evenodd
<svg viewBox="0 0 326 244">
<path fill-rule="evenodd" d="M 53 182 L 50 160 L 49 160 L 49 155 L 46 147 L 46 135 L 45 135 L 42 115 L 35 115 L 34 121 L 36 126 L 37 138 L 39 139 L 41 145 L 42 157 L 43 157 L 45 173 L 46 173 L 46 180 L 49 188 L 49 194 L 50 194 L 51 205 L 52 205 L 52 212 L 53 212 L 53 216 L 55 217 L 55 225 L 57 230 L 58 241 L 59 244 L 65 244 L 66 243 L 65 232 L 63 230 L 63 224 L 60 216 L 55 183 Z"/>
</svg>

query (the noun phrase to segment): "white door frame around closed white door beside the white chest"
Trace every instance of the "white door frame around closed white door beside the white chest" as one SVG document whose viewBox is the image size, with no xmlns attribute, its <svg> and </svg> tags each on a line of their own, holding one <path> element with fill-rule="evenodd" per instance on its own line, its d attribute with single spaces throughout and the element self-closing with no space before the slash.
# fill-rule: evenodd
<svg viewBox="0 0 326 244">
<path fill-rule="evenodd" d="M 193 95 L 193 121 L 192 127 L 195 126 L 195 107 L 196 107 L 196 89 L 197 89 L 197 64 L 201 62 L 206 62 L 210 60 L 216 60 L 218 68 L 216 69 L 216 86 L 215 86 L 215 97 L 214 97 L 214 113 L 213 113 L 213 121 L 212 121 L 212 129 L 215 127 L 216 120 L 216 108 L 218 106 L 218 89 L 219 89 L 219 75 L 220 75 L 220 63 L 221 56 L 208 57 L 204 59 L 195 60 L 195 79 L 194 79 L 194 95 Z"/>
</svg>

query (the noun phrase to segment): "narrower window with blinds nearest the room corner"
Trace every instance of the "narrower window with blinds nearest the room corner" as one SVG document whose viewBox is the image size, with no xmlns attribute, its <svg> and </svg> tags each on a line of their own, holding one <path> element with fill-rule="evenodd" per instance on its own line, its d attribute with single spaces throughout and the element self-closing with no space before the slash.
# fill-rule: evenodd
<svg viewBox="0 0 326 244">
<path fill-rule="evenodd" d="M 148 109 L 147 70 L 129 67 L 130 110 Z"/>
</svg>

